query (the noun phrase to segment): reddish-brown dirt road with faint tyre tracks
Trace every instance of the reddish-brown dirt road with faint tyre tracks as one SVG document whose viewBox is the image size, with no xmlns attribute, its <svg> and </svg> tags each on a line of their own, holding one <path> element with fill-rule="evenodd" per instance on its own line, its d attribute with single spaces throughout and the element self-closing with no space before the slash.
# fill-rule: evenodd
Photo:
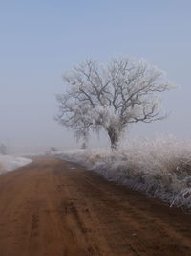
<svg viewBox="0 0 191 256">
<path fill-rule="evenodd" d="M 0 176 L 0 256 L 191 255 L 191 216 L 72 163 Z"/>
</svg>

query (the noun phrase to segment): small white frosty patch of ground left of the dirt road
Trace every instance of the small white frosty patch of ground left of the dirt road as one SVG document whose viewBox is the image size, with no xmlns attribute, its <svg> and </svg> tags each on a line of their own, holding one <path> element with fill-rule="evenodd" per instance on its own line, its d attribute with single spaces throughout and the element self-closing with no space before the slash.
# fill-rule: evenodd
<svg viewBox="0 0 191 256">
<path fill-rule="evenodd" d="M 0 174 L 31 163 L 32 160 L 12 155 L 0 155 Z"/>
</svg>

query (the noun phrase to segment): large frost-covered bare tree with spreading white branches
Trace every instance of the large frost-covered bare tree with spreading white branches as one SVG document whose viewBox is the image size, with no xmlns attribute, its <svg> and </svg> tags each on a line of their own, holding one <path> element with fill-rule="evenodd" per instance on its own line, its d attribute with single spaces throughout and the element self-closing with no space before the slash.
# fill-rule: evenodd
<svg viewBox="0 0 191 256">
<path fill-rule="evenodd" d="M 57 95 L 56 120 L 72 128 L 78 138 L 105 129 L 112 149 L 131 124 L 165 117 L 159 94 L 173 86 L 159 68 L 132 58 L 112 59 L 105 66 L 86 60 L 64 73 L 63 79 L 69 86 Z"/>
</svg>

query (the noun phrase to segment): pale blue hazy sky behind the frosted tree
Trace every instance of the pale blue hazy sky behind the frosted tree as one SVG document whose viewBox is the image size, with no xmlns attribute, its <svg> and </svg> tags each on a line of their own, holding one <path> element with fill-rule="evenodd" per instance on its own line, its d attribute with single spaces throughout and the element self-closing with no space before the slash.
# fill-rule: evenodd
<svg viewBox="0 0 191 256">
<path fill-rule="evenodd" d="M 191 137 L 191 1 L 0 0 L 0 141 L 18 150 L 74 147 L 53 121 L 61 73 L 84 58 L 146 58 L 181 84 L 164 102 L 168 120 L 130 135 Z"/>
</svg>

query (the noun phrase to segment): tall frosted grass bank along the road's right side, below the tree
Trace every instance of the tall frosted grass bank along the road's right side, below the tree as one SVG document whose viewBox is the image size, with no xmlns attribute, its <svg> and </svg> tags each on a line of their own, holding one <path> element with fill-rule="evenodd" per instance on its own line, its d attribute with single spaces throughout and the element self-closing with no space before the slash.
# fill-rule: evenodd
<svg viewBox="0 0 191 256">
<path fill-rule="evenodd" d="M 65 151 L 59 157 L 95 170 L 171 206 L 191 210 L 191 141 L 174 137 L 130 142 L 116 152 Z"/>
</svg>

